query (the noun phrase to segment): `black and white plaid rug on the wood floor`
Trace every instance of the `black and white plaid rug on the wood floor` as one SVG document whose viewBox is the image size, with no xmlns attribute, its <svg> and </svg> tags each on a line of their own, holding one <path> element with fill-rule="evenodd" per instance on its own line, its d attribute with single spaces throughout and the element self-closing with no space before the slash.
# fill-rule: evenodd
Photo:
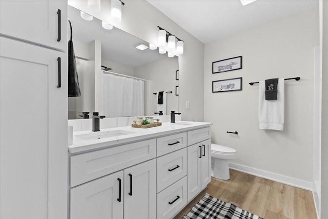
<svg viewBox="0 0 328 219">
<path fill-rule="evenodd" d="M 263 219 L 237 206 L 218 200 L 208 193 L 183 217 L 183 219 Z"/>
</svg>

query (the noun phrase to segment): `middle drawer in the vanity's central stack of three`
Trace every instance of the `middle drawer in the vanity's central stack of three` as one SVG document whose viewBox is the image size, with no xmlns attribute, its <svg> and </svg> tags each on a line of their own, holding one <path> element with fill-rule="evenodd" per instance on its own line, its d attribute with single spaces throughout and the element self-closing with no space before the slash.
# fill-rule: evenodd
<svg viewBox="0 0 328 219">
<path fill-rule="evenodd" d="M 187 175 L 187 148 L 157 158 L 157 192 Z"/>
</svg>

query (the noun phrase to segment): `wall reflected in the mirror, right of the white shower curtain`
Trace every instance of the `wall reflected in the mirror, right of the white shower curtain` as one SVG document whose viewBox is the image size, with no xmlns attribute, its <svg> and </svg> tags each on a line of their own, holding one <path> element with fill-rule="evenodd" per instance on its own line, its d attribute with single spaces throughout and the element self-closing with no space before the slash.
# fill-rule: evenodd
<svg viewBox="0 0 328 219">
<path fill-rule="evenodd" d="M 153 93 L 158 91 L 172 91 L 172 93 L 167 93 L 167 114 L 170 114 L 170 111 L 178 111 L 179 96 L 175 95 L 175 86 L 179 86 L 179 80 L 175 79 L 175 71 L 178 68 L 178 57 L 166 57 L 134 68 L 134 76 L 147 79 L 150 84 L 145 115 L 154 115 L 157 102 L 156 95 Z"/>
</svg>

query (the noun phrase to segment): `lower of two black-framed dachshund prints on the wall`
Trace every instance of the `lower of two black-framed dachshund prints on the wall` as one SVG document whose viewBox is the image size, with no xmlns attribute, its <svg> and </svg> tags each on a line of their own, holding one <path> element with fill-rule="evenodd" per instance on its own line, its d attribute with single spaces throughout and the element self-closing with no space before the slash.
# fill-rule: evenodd
<svg viewBox="0 0 328 219">
<path fill-rule="evenodd" d="M 212 92 L 241 90 L 242 77 L 224 79 L 212 82 Z"/>
</svg>

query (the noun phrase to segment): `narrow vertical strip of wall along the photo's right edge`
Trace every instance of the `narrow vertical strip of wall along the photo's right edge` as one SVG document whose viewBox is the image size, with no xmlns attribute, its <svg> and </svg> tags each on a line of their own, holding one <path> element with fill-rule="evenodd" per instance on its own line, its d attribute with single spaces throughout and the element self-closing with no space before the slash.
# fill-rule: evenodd
<svg viewBox="0 0 328 219">
<path fill-rule="evenodd" d="M 320 2 L 320 47 L 322 51 L 321 121 L 321 218 L 328 218 L 328 2 Z"/>
</svg>

